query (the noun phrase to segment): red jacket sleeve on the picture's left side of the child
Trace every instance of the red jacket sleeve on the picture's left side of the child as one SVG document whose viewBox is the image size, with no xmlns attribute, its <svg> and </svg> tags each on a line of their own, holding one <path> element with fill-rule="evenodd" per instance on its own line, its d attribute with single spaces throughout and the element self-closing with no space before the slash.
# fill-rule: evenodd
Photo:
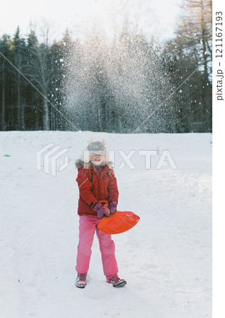
<svg viewBox="0 0 225 318">
<path fill-rule="evenodd" d="M 92 192 L 92 184 L 88 177 L 88 170 L 80 167 L 78 169 L 78 177 L 76 178 L 76 182 L 78 182 L 80 197 L 85 201 L 86 204 L 88 204 L 88 206 L 95 206 L 98 201 Z"/>
</svg>

